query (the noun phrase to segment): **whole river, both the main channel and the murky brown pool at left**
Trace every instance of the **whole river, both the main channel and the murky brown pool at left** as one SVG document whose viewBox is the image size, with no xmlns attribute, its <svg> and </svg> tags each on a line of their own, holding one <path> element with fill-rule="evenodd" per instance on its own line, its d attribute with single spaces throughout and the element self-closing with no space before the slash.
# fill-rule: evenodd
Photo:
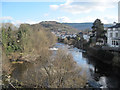
<svg viewBox="0 0 120 90">
<path fill-rule="evenodd" d="M 82 72 L 86 72 L 88 87 L 94 88 L 119 88 L 120 86 L 120 70 L 112 67 L 111 65 L 106 65 L 99 60 L 88 57 L 83 50 L 77 49 L 73 46 L 69 46 L 63 43 L 56 43 L 54 48 L 64 49 L 67 53 L 73 56 L 73 59 L 82 68 Z M 56 50 L 54 51 L 56 52 Z M 54 54 L 53 54 L 54 56 Z M 15 64 L 14 71 L 12 72 L 12 77 L 18 80 L 31 78 L 31 70 L 36 73 L 35 70 L 39 70 L 39 67 L 33 67 L 32 64 Z M 40 66 L 40 65 L 39 65 Z M 35 70 L 34 70 L 35 69 Z M 29 71 L 30 70 L 30 71 Z M 28 75 L 25 74 L 28 72 Z M 30 73 L 30 74 L 29 74 Z M 26 77 L 25 77 L 26 75 Z"/>
</svg>

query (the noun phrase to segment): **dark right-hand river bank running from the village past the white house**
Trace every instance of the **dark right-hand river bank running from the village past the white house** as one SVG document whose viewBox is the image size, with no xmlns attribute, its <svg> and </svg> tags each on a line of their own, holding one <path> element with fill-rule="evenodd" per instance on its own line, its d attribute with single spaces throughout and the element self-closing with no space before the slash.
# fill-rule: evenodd
<svg viewBox="0 0 120 90">
<path fill-rule="evenodd" d="M 75 39 L 62 39 L 60 42 L 73 45 L 73 47 L 77 47 L 78 49 L 82 49 L 86 51 L 88 56 L 95 58 L 95 60 L 99 60 L 102 63 L 109 64 L 116 68 L 120 68 L 120 52 L 115 51 L 107 51 L 102 48 L 102 46 L 95 45 L 90 47 L 89 42 L 85 40 L 76 41 Z"/>
</svg>

